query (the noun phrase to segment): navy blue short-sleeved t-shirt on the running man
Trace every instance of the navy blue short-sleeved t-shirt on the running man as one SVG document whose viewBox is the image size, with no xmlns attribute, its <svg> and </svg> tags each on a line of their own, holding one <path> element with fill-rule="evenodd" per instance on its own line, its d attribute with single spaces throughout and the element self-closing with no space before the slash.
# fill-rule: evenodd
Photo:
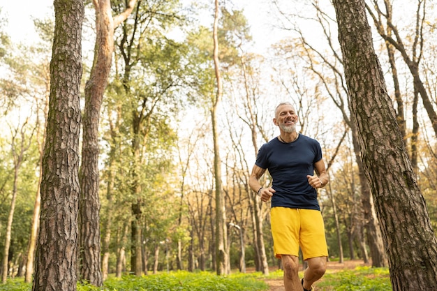
<svg viewBox="0 0 437 291">
<path fill-rule="evenodd" d="M 263 144 L 255 165 L 268 169 L 272 175 L 272 207 L 320 210 L 317 191 L 306 175 L 314 174 L 314 163 L 322 159 L 317 140 L 299 134 L 294 142 L 284 144 L 276 137 Z"/>
</svg>

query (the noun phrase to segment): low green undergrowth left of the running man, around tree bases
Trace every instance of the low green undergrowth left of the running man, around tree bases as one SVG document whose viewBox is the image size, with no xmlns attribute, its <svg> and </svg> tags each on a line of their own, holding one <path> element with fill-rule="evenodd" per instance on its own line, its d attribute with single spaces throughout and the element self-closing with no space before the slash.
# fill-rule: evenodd
<svg viewBox="0 0 437 291">
<path fill-rule="evenodd" d="M 31 284 L 22 278 L 0 283 L 0 291 L 30 291 Z M 189 273 L 175 271 L 148 276 L 111 277 L 103 287 L 77 284 L 77 291 L 262 291 L 269 290 L 260 274 L 232 274 L 217 276 L 211 272 Z"/>
</svg>

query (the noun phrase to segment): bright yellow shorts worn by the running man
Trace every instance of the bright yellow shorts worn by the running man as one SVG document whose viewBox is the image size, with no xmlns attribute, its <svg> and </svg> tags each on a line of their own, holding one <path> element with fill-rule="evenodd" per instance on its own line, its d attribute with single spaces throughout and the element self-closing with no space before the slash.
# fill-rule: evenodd
<svg viewBox="0 0 437 291">
<path fill-rule="evenodd" d="M 270 215 L 276 258 L 281 255 L 298 257 L 299 246 L 304 260 L 327 257 L 325 225 L 320 211 L 273 207 Z"/>
</svg>

